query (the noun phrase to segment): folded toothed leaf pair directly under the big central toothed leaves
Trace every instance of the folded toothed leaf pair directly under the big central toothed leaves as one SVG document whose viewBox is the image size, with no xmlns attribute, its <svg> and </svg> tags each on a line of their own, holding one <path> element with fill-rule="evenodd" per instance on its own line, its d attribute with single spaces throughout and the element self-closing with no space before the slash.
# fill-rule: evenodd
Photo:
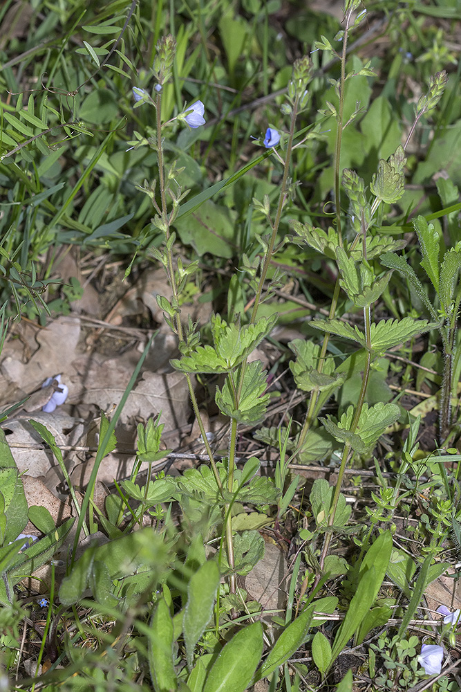
<svg viewBox="0 0 461 692">
<path fill-rule="evenodd" d="M 238 423 L 255 425 L 265 418 L 270 394 L 264 394 L 267 389 L 267 374 L 263 370 L 261 361 L 253 361 L 245 367 L 243 385 L 238 400 L 238 407 L 234 404 L 235 387 L 234 377 L 228 374 L 223 388 L 216 388 L 215 401 L 219 410 Z"/>
</svg>

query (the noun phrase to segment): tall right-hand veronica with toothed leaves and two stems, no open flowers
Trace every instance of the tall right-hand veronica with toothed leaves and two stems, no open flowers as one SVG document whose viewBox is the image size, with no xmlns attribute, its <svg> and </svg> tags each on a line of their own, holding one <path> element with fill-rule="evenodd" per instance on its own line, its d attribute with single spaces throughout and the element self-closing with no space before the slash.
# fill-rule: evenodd
<svg viewBox="0 0 461 692">
<path fill-rule="evenodd" d="M 359 114 L 357 106 L 348 122 L 343 122 L 344 94 L 347 88 L 346 82 L 358 75 L 370 75 L 370 66 L 367 64 L 357 72 L 346 74 L 346 44 L 350 28 L 357 26 L 364 19 L 364 13 L 355 19 L 352 25 L 352 15 L 359 6 L 359 0 L 346 2 L 346 28 L 337 35 L 337 39 L 343 42 L 342 54 L 337 54 L 330 42 L 322 39 L 316 44 L 321 50 L 336 53 L 341 60 L 341 77 L 335 82 L 335 92 L 338 104 L 328 104 L 328 112 L 325 115 L 334 116 L 337 127 L 335 149 L 335 209 L 336 228 L 328 228 L 326 233 L 321 228 L 314 228 L 310 224 L 294 222 L 294 230 L 302 242 L 314 248 L 337 265 L 337 282 L 333 292 L 332 304 L 328 320 L 312 320 L 311 325 L 325 332 L 321 349 L 313 349 L 312 345 L 298 345 L 298 363 L 301 370 L 297 384 L 310 392 L 308 411 L 305 417 L 303 429 L 299 435 L 298 448 L 303 450 L 310 443 L 309 433 L 314 421 L 317 420 L 319 410 L 324 401 L 341 384 L 346 367 L 335 367 L 332 360 L 326 360 L 328 340 L 330 335 L 337 335 L 347 340 L 352 340 L 359 347 L 359 354 L 363 361 L 363 378 L 357 405 L 349 406 L 339 420 L 330 416 L 321 418 L 324 428 L 343 445 L 341 453 L 341 465 L 335 495 L 330 509 L 330 526 L 335 522 L 335 512 L 341 490 L 341 482 L 344 476 L 346 464 L 354 454 L 369 452 L 375 446 L 377 439 L 386 427 L 393 424 L 399 417 L 399 408 L 393 403 L 377 403 L 368 406 L 366 403 L 366 390 L 370 377 L 372 361 L 382 356 L 386 349 L 428 331 L 433 325 L 427 320 L 414 320 L 404 318 L 402 320 L 382 320 L 373 324 L 371 319 L 371 307 L 380 295 L 385 291 L 391 278 L 391 271 L 383 271 L 378 260 L 384 257 L 397 257 L 395 251 L 404 246 L 403 241 L 390 239 L 388 236 L 373 233 L 372 229 L 377 221 L 377 212 L 383 205 L 396 203 L 404 193 L 404 168 L 406 165 L 405 149 L 408 146 L 411 135 L 420 118 L 433 108 L 444 91 L 447 76 L 446 73 L 435 75 L 429 84 L 429 91 L 417 103 L 415 107 L 415 120 L 411 126 L 408 138 L 404 146 L 399 146 L 395 153 L 389 156 L 387 161 L 379 161 L 377 172 L 373 175 L 370 184 L 370 195 L 366 194 L 364 180 L 352 170 L 345 169 L 342 172 L 342 187 L 346 192 L 350 204 L 348 223 L 352 231 L 352 240 L 348 241 L 344 236 L 342 227 L 344 219 L 341 216 L 341 188 L 339 185 L 339 156 L 341 151 L 341 138 L 343 130 L 350 126 Z M 394 266 L 389 260 L 383 261 L 387 267 Z M 453 269 L 453 271 L 455 271 Z M 361 309 L 364 314 L 364 328 L 352 327 L 335 319 L 337 301 L 341 289 L 346 293 L 352 306 Z M 296 367 L 295 365 L 293 367 Z M 301 376 L 302 375 L 302 376 Z M 323 394 L 325 392 L 325 394 Z M 323 394 L 323 396 L 322 396 Z M 312 433 L 311 433 L 312 437 Z M 327 534 L 323 544 L 320 567 L 323 567 L 324 558 L 328 552 L 332 534 Z"/>
</svg>

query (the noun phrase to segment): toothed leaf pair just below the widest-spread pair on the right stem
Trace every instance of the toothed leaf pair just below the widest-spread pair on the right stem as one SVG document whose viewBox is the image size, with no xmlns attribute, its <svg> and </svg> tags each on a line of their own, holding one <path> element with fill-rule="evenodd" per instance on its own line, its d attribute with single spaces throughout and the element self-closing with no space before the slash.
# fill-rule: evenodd
<svg viewBox="0 0 461 692">
<path fill-rule="evenodd" d="M 330 416 L 320 420 L 330 435 L 344 444 L 349 444 L 355 452 L 362 454 L 373 449 L 384 430 L 393 425 L 399 415 L 400 409 L 395 403 L 379 401 L 370 408 L 368 408 L 368 404 L 364 403 L 359 423 L 353 431 L 351 430 L 354 417 L 353 406 L 348 407 L 337 424 Z"/>
</svg>

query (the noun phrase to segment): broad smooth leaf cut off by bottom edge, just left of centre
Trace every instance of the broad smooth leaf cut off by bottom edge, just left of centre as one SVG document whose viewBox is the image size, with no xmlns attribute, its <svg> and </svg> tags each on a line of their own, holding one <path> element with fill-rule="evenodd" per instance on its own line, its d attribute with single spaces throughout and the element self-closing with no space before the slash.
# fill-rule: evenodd
<svg viewBox="0 0 461 692">
<path fill-rule="evenodd" d="M 227 642 L 207 675 L 203 692 L 244 692 L 263 654 L 260 622 L 247 625 Z"/>
</svg>

